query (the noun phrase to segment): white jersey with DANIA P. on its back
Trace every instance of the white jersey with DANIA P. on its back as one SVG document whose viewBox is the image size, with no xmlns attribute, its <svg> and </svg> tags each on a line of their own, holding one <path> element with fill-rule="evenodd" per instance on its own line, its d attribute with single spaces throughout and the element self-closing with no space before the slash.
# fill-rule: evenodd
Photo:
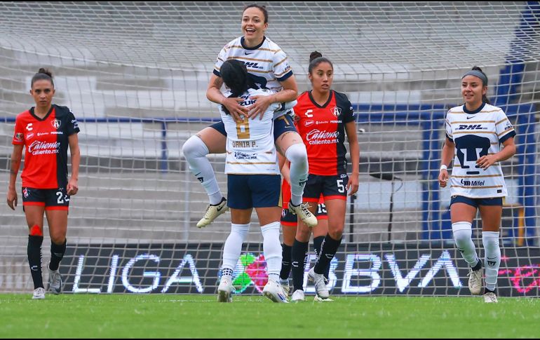
<svg viewBox="0 0 540 340">
<path fill-rule="evenodd" d="M 250 89 L 241 97 L 243 107 L 250 107 L 255 100 L 251 96 L 272 95 L 269 90 Z M 227 96 L 227 95 L 226 95 Z M 262 119 L 244 117 L 236 122 L 225 114 L 220 105 L 220 114 L 227 131 L 227 157 L 225 173 L 235 175 L 279 175 L 278 155 L 274 145 L 274 111 L 281 104 L 270 104 Z"/>
</svg>

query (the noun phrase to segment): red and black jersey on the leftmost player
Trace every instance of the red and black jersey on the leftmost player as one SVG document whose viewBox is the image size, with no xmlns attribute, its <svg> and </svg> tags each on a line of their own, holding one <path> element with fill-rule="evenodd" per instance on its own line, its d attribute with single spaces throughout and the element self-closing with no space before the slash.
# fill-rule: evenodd
<svg viewBox="0 0 540 340">
<path fill-rule="evenodd" d="M 53 104 L 43 119 L 34 114 L 34 107 L 19 114 L 13 144 L 26 147 L 22 186 L 65 188 L 68 137 L 79 131 L 77 120 L 67 107 Z"/>
</svg>

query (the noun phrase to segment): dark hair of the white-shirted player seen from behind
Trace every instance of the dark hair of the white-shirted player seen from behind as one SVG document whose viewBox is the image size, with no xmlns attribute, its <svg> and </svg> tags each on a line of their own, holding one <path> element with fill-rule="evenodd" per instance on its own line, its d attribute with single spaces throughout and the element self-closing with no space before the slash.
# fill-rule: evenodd
<svg viewBox="0 0 540 340">
<path fill-rule="evenodd" d="M 220 68 L 220 75 L 225 85 L 231 90 L 229 98 L 240 97 L 248 89 L 257 88 L 245 64 L 240 60 L 230 59 L 224 62 Z M 224 106 L 223 111 L 230 114 Z"/>
</svg>

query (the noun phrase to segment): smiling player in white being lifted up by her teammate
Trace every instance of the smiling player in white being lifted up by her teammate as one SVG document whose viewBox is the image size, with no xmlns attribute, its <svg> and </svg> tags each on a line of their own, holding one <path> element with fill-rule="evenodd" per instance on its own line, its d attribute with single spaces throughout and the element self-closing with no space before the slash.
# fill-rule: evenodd
<svg viewBox="0 0 540 340">
<path fill-rule="evenodd" d="M 286 109 L 285 104 L 296 100 L 297 83 L 288 63 L 287 55 L 271 41 L 264 32 L 268 28 L 268 13 L 264 6 L 248 5 L 242 14 L 243 36 L 227 43 L 217 56 L 215 68 L 206 97 L 221 104 L 231 116 L 240 120 L 240 115 L 255 119 L 263 116 L 271 104 L 282 104 L 274 114 L 274 141 L 280 154 L 290 161 L 291 178 L 291 212 L 298 215 L 308 226 L 316 226 L 316 217 L 309 212 L 307 205 L 302 204 L 304 185 L 308 177 L 307 151 L 302 138 L 298 135 L 290 114 L 292 107 Z M 223 84 L 220 67 L 226 60 L 240 60 L 248 68 L 248 74 L 257 88 L 275 91 L 272 95 L 254 95 L 249 108 L 241 106 L 243 99 L 228 98 L 221 92 Z M 217 185 L 214 170 L 207 154 L 225 152 L 227 131 L 223 122 L 210 125 L 199 131 L 184 143 L 182 153 L 189 163 L 189 170 L 203 185 L 210 204 L 204 217 L 198 222 L 199 228 L 207 226 L 216 217 L 227 210 L 227 200 Z"/>
</svg>

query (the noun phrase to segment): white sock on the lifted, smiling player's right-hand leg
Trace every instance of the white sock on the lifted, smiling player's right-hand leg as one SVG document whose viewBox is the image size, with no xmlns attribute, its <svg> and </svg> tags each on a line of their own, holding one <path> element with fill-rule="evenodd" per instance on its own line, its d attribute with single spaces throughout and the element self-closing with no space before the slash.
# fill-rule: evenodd
<svg viewBox="0 0 540 340">
<path fill-rule="evenodd" d="M 304 144 L 292 144 L 285 157 L 290 161 L 290 201 L 293 205 L 302 203 L 309 166 L 307 150 Z"/>
</svg>

